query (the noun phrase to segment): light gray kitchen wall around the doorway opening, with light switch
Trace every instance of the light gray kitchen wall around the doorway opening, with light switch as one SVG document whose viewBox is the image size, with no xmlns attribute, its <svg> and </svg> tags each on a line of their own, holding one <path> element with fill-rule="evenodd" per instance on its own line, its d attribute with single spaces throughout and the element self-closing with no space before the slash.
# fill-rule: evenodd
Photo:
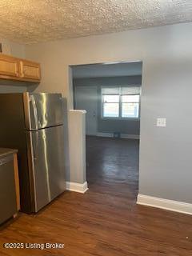
<svg viewBox="0 0 192 256">
<path fill-rule="evenodd" d="M 142 60 L 139 193 L 190 203 L 191 30 L 186 23 L 26 46 L 26 57 L 42 64 L 38 90 L 62 91 L 69 107 L 69 65 Z M 166 128 L 155 126 L 158 117 Z"/>
</svg>

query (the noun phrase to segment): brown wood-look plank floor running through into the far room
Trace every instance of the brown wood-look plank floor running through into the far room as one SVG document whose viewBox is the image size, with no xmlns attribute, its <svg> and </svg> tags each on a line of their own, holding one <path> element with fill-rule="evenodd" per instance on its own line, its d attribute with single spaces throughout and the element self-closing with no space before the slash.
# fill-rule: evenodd
<svg viewBox="0 0 192 256">
<path fill-rule="evenodd" d="M 86 194 L 66 192 L 0 231 L 2 255 L 190 256 L 192 216 L 136 205 L 138 141 L 87 138 Z M 4 249 L 5 242 L 64 243 L 64 249 Z"/>
</svg>

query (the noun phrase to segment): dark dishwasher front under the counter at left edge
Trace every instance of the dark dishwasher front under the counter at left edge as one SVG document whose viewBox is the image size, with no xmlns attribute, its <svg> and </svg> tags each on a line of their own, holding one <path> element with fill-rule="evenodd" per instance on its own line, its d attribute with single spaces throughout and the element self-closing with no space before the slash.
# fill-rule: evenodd
<svg viewBox="0 0 192 256">
<path fill-rule="evenodd" d="M 0 224 L 17 212 L 13 154 L 0 158 Z"/>
</svg>

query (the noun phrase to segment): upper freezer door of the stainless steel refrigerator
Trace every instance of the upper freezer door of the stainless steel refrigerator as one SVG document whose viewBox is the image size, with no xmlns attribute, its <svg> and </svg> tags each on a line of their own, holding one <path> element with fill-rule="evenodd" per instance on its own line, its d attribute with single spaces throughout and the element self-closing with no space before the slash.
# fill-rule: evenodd
<svg viewBox="0 0 192 256">
<path fill-rule="evenodd" d="M 63 123 L 62 94 L 25 93 L 24 106 L 27 130 L 38 130 Z"/>
</svg>

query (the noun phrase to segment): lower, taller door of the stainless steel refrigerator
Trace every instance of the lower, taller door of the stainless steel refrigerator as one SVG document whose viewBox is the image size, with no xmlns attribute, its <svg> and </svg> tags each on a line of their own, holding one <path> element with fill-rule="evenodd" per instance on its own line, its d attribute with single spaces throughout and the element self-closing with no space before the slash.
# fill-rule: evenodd
<svg viewBox="0 0 192 256">
<path fill-rule="evenodd" d="M 35 212 L 66 188 L 63 126 L 30 131 L 33 148 Z"/>
</svg>

